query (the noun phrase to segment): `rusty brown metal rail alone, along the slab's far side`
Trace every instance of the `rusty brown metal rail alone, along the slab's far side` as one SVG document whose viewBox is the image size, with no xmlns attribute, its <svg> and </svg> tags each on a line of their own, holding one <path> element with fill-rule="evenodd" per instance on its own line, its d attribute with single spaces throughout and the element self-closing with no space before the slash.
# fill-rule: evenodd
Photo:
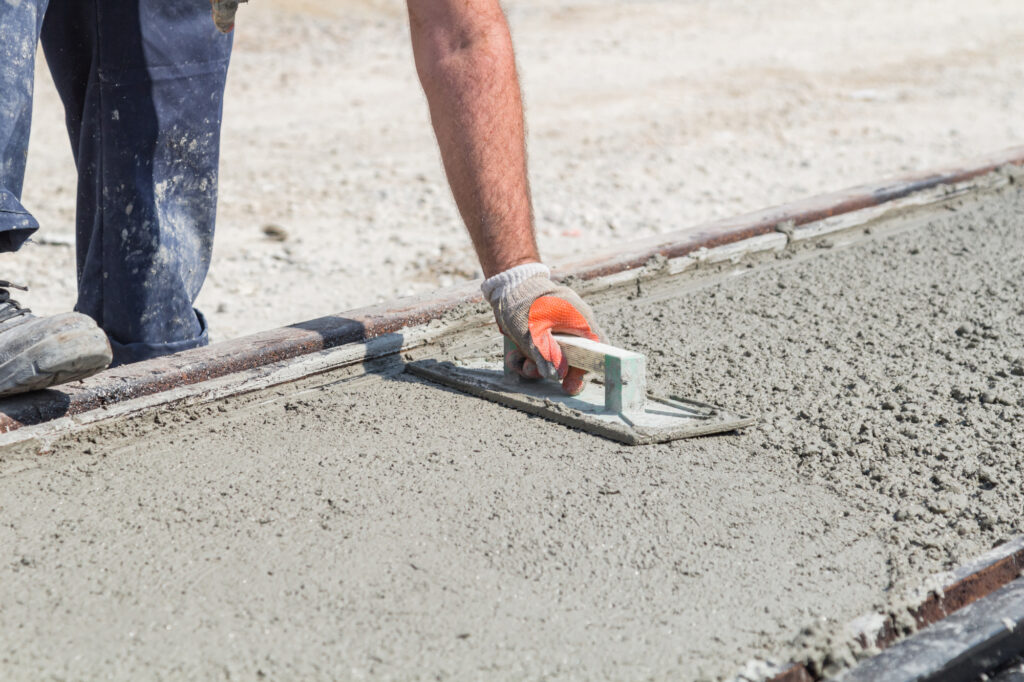
<svg viewBox="0 0 1024 682">
<path fill-rule="evenodd" d="M 678 258 L 776 231 L 780 224 L 815 220 L 881 206 L 941 184 L 964 182 L 1007 165 L 1024 166 L 1024 147 L 1014 147 L 970 164 L 920 173 L 821 195 L 776 208 L 718 220 L 670 235 L 632 242 L 595 257 L 562 263 L 559 278 L 588 281 L 641 267 L 655 256 Z M 457 307 L 478 302 L 470 283 L 426 296 L 328 315 L 103 372 L 74 385 L 0 400 L 0 433 L 40 424 L 115 402 L 223 377 L 255 367 L 345 343 L 361 343 L 423 325 Z"/>
</svg>

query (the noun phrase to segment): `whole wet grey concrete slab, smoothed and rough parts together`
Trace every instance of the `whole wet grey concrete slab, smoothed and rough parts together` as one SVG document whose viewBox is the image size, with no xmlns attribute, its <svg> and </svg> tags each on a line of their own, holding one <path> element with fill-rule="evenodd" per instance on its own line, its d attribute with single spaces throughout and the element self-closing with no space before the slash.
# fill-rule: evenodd
<svg viewBox="0 0 1024 682">
<path fill-rule="evenodd" d="M 384 374 L 8 454 L 0 669 L 694 679 L 817 646 L 1024 531 L 1022 211 L 599 306 L 740 434 L 627 447 Z"/>
</svg>

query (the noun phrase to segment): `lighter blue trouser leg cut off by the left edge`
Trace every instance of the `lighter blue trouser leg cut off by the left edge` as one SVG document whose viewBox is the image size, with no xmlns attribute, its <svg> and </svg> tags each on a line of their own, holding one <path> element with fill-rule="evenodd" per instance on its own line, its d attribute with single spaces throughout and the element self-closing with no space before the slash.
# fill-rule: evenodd
<svg viewBox="0 0 1024 682">
<path fill-rule="evenodd" d="M 0 252 L 17 250 L 39 228 L 22 206 L 22 187 L 45 13 L 46 0 L 0 0 Z"/>
</svg>

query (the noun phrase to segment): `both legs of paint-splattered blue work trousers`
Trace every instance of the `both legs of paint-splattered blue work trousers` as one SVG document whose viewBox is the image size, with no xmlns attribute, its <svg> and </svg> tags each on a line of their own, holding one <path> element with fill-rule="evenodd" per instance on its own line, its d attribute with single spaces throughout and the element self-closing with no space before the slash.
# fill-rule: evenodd
<svg viewBox="0 0 1024 682">
<path fill-rule="evenodd" d="M 230 38 L 207 0 L 0 0 L 0 251 L 39 227 L 20 203 L 39 40 L 78 168 L 76 309 L 116 364 L 206 345 L 193 303 L 213 246 Z"/>
</svg>

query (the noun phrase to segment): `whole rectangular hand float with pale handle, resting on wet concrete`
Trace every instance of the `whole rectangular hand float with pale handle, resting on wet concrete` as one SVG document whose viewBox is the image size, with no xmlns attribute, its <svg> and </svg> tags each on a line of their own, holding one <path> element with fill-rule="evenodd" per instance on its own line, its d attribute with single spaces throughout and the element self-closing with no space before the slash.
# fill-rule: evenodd
<svg viewBox="0 0 1024 682">
<path fill-rule="evenodd" d="M 630 445 L 734 431 L 756 421 L 696 400 L 648 393 L 647 363 L 641 353 L 574 336 L 555 335 L 555 340 L 570 367 L 596 377 L 579 395 L 566 395 L 554 381 L 522 379 L 498 360 L 456 365 L 426 359 L 407 369 L 443 386 Z M 510 344 L 506 339 L 506 354 Z"/>
</svg>

